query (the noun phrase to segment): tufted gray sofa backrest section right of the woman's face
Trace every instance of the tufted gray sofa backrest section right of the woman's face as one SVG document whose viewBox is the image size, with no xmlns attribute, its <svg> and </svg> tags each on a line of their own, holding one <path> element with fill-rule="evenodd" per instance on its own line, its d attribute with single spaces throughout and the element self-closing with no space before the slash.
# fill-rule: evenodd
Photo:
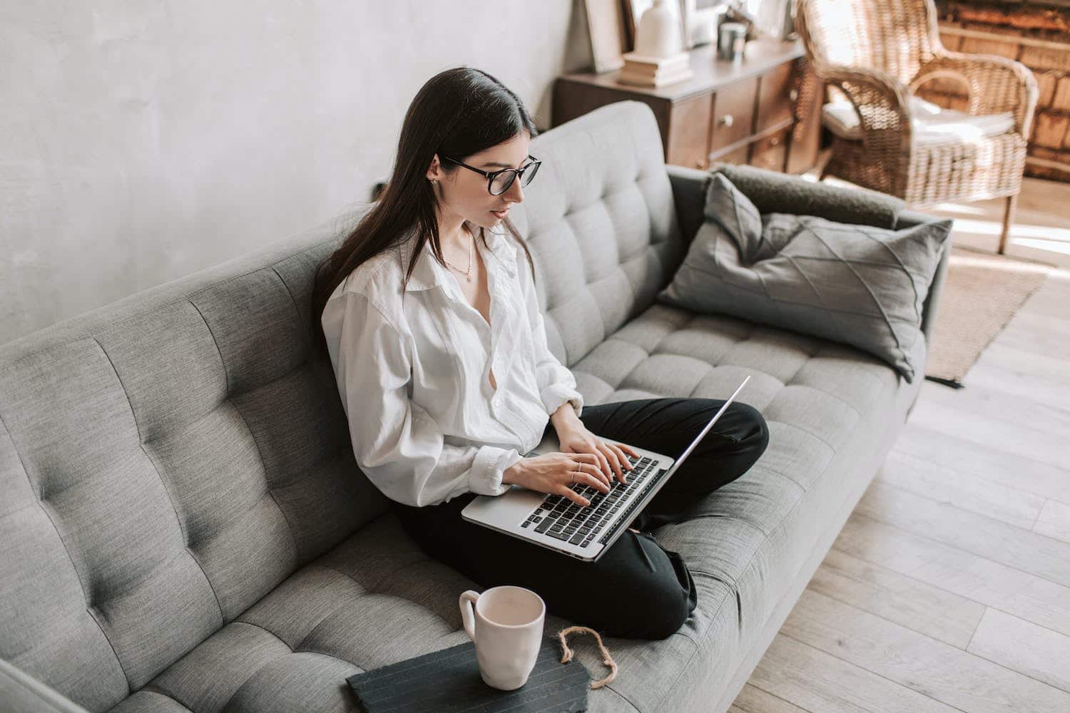
<svg viewBox="0 0 1070 713">
<path fill-rule="evenodd" d="M 535 263 L 547 341 L 567 367 L 649 307 L 684 260 L 662 146 L 654 112 L 635 100 L 531 142 L 545 162 L 510 215 Z"/>
</svg>

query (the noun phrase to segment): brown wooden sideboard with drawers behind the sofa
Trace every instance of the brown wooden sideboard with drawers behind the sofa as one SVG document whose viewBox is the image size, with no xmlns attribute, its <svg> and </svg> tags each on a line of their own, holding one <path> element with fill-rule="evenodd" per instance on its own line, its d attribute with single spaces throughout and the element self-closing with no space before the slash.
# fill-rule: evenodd
<svg viewBox="0 0 1070 713">
<path fill-rule="evenodd" d="M 635 99 L 654 110 L 667 164 L 706 169 L 728 161 L 791 173 L 813 167 L 823 88 L 800 42 L 753 40 L 738 63 L 717 59 L 714 45 L 688 53 L 694 76 L 664 87 L 622 84 L 620 71 L 562 75 L 553 84 L 552 125 Z"/>
</svg>

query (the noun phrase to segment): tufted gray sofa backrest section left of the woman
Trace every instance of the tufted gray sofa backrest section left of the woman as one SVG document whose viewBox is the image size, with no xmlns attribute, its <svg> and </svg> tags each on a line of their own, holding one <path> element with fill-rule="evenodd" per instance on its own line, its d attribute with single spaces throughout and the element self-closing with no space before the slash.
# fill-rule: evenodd
<svg viewBox="0 0 1070 713">
<path fill-rule="evenodd" d="M 308 354 L 355 215 L 0 347 L 0 656 L 106 710 L 386 511 Z"/>
</svg>

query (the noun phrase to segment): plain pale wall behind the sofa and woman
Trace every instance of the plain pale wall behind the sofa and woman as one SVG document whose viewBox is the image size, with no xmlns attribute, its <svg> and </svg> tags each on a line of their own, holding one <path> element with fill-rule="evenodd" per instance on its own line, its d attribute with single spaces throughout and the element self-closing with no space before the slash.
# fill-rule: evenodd
<svg viewBox="0 0 1070 713">
<path fill-rule="evenodd" d="M 586 33 L 582 0 L 3 0 L 0 343 L 368 200 L 442 69 L 547 129 Z"/>
</svg>

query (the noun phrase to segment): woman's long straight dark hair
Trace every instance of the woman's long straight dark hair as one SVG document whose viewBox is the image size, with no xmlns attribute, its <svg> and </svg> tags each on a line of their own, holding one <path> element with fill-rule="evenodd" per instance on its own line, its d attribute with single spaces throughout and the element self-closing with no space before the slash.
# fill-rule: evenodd
<svg viewBox="0 0 1070 713">
<path fill-rule="evenodd" d="M 535 122 L 520 98 L 505 84 L 480 69 L 461 66 L 441 72 L 419 89 L 406 112 L 398 139 L 394 170 L 373 206 L 361 218 L 341 245 L 319 264 L 312 288 L 312 344 L 326 352 L 321 316 L 327 298 L 339 283 L 366 260 L 399 244 L 413 227 L 418 227 L 415 249 L 402 283 L 416 265 L 421 250 L 431 241 L 435 259 L 445 266 L 439 243 L 435 208 L 439 197 L 427 180 L 427 169 L 439 154 L 442 170 L 460 170 L 443 154 L 464 160 L 528 131 L 538 135 Z M 465 161 L 467 162 L 467 161 Z M 503 221 L 513 237 L 523 247 L 535 278 L 528 244 L 509 218 Z M 479 237 L 487 245 L 483 227 Z"/>
</svg>

